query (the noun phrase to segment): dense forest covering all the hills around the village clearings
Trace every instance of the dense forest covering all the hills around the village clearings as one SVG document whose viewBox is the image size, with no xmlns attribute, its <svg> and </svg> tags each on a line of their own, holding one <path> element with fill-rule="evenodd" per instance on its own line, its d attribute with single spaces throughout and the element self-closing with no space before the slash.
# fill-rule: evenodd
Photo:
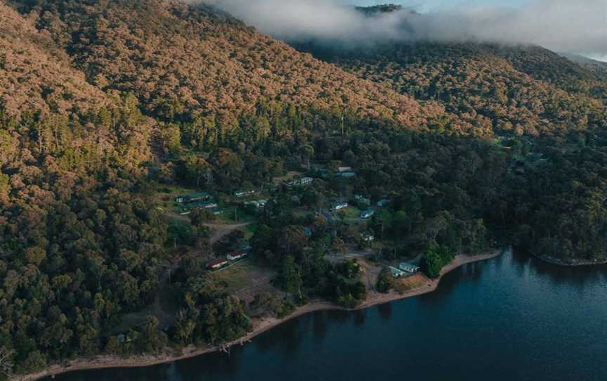
<svg viewBox="0 0 607 381">
<path fill-rule="evenodd" d="M 593 67 L 540 47 L 292 47 L 162 0 L 0 0 L 0 380 L 75 356 L 223 344 L 251 311 L 311 297 L 355 306 L 360 266 L 326 257 L 365 233 L 425 250 L 431 275 L 490 240 L 605 260 L 607 77 Z M 176 236 L 159 188 L 231 194 L 311 162 L 358 176 L 273 188 L 251 239 L 292 299 L 245 306 L 192 253 L 171 267 L 178 242 L 227 252 L 242 234 L 211 247 L 212 217 L 197 211 Z M 391 200 L 367 231 L 292 212 L 294 197 L 320 210 L 351 188 Z M 120 338 L 168 278 L 174 324 L 150 316 Z"/>
</svg>

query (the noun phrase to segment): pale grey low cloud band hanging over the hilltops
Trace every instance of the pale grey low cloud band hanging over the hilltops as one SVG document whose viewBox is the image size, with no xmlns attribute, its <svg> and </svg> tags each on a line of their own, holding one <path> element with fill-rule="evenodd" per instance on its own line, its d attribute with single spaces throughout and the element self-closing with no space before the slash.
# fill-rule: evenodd
<svg viewBox="0 0 607 381">
<path fill-rule="evenodd" d="M 207 0 L 286 41 L 490 41 L 607 55 L 607 0 L 530 0 L 516 8 L 403 8 L 365 16 L 338 0 Z"/>
</svg>

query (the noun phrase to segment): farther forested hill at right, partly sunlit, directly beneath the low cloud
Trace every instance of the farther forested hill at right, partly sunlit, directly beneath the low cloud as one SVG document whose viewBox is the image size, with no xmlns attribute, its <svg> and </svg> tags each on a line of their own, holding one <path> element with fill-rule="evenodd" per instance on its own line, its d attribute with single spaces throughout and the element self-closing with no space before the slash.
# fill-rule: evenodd
<svg viewBox="0 0 607 381">
<path fill-rule="evenodd" d="M 358 77 L 437 101 L 479 132 L 559 135 L 606 120 L 605 82 L 546 49 L 386 44 L 360 53 L 298 46 Z"/>
</svg>

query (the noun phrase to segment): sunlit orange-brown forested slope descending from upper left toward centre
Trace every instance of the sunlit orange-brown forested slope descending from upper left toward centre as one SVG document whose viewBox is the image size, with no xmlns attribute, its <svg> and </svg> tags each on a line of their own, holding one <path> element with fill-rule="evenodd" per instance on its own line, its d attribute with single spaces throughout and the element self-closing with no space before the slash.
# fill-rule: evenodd
<svg viewBox="0 0 607 381">
<path fill-rule="evenodd" d="M 260 101 L 280 101 L 320 109 L 355 105 L 361 116 L 424 124 L 411 98 L 298 53 L 207 6 L 161 0 L 27 4 L 21 11 L 70 54 L 91 84 L 133 91 L 149 115 L 218 115 L 229 124 L 236 112 Z"/>
</svg>

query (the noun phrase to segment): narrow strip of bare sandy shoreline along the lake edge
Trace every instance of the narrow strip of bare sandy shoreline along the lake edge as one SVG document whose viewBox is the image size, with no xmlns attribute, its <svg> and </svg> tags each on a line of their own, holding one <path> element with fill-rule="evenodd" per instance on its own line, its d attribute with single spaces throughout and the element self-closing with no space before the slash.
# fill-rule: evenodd
<svg viewBox="0 0 607 381">
<path fill-rule="evenodd" d="M 337 306 L 330 302 L 311 302 L 306 304 L 305 306 L 301 306 L 296 309 L 292 314 L 286 316 L 285 318 L 263 318 L 261 321 L 254 322 L 254 328 L 251 332 L 249 332 L 246 336 L 242 337 L 239 340 L 235 340 L 226 345 L 226 347 L 231 347 L 233 345 L 246 343 L 251 340 L 253 337 L 261 334 L 262 332 L 266 332 L 270 330 L 270 328 L 274 328 L 276 325 L 281 323 L 285 323 L 285 321 L 289 321 L 298 316 L 302 316 L 308 314 L 313 311 L 322 311 L 322 310 L 342 310 L 342 311 L 355 311 L 359 309 L 365 309 L 370 306 L 374 306 L 377 304 L 384 304 L 387 302 L 392 302 L 398 299 L 405 299 L 407 297 L 414 297 L 417 295 L 426 294 L 427 292 L 432 292 L 436 290 L 438 284 L 440 283 L 440 279 L 443 276 L 457 269 L 459 266 L 463 266 L 464 264 L 469 264 L 477 261 L 485 261 L 486 259 L 491 259 L 500 256 L 503 250 L 492 250 L 491 252 L 485 254 L 478 255 L 457 255 L 453 261 L 445 266 L 442 271 L 440 271 L 440 277 L 437 279 L 427 279 L 424 284 L 420 285 L 417 288 L 413 288 L 412 290 L 408 290 L 407 292 L 398 293 L 395 291 L 391 291 L 387 294 L 380 294 L 377 292 L 368 292 L 367 299 L 363 304 L 357 306 L 355 309 L 346 309 L 341 306 Z M 206 354 L 213 351 L 218 351 L 221 348 L 219 347 L 207 347 L 207 348 L 195 348 L 195 347 L 186 347 L 185 349 L 168 349 L 162 355 L 153 356 L 153 355 L 143 355 L 143 356 L 129 356 L 126 359 L 123 359 L 119 356 L 96 356 L 94 359 L 77 359 L 73 361 L 68 361 L 67 365 L 54 365 L 49 366 L 45 370 L 39 373 L 31 373 L 29 375 L 13 375 L 9 378 L 11 381 L 34 381 L 39 380 L 44 377 L 48 377 L 51 375 L 58 375 L 60 373 L 73 372 L 74 370 L 87 370 L 87 369 L 100 369 L 100 368 L 138 368 L 145 366 L 157 365 L 160 363 L 169 363 L 172 361 L 178 361 L 183 359 L 189 359 L 191 357 L 200 356 L 201 354 Z"/>
</svg>

